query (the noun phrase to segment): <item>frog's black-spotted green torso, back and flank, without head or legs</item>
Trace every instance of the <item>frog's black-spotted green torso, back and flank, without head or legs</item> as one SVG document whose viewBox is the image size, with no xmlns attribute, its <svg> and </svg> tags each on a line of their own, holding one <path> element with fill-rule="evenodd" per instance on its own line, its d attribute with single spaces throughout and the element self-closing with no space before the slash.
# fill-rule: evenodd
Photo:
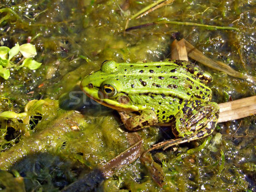
<svg viewBox="0 0 256 192">
<path fill-rule="evenodd" d="M 123 83 L 122 92 L 136 105 L 154 110 L 160 123 L 171 121 L 190 101 L 207 102 L 212 97 L 192 71 L 170 62 L 121 63 L 115 78 Z"/>
</svg>

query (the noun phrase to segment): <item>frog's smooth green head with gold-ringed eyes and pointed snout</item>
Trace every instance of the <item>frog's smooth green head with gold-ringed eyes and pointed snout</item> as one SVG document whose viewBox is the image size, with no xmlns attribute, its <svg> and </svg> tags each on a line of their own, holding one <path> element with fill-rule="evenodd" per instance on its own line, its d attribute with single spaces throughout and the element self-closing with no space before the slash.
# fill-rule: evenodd
<svg viewBox="0 0 256 192">
<path fill-rule="evenodd" d="M 90 73 L 81 81 L 81 89 L 87 96 L 117 111 L 139 111 L 129 98 L 123 74 L 115 61 L 103 62 L 99 71 Z"/>
</svg>

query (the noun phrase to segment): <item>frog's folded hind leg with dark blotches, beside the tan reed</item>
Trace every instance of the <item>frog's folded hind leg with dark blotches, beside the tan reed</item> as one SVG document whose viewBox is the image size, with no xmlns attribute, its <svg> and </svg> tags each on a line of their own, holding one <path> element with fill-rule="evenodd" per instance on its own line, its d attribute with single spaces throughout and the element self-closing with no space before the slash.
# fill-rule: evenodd
<svg viewBox="0 0 256 192">
<path fill-rule="evenodd" d="M 212 134 L 218 121 L 219 107 L 215 102 L 192 102 L 175 115 L 175 123 L 172 131 L 176 137 L 174 140 L 166 140 L 153 145 L 148 151 L 169 148 L 180 143 L 198 140 Z"/>
</svg>

